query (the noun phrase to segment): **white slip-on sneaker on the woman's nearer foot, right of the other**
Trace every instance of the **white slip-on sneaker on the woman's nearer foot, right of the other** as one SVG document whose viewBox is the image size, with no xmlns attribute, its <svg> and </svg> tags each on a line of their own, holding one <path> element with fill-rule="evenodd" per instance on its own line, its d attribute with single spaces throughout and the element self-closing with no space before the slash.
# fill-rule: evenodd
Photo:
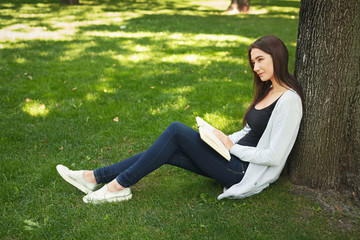
<svg viewBox="0 0 360 240">
<path fill-rule="evenodd" d="M 86 203 L 104 203 L 104 202 L 121 202 L 132 198 L 130 188 L 125 188 L 119 192 L 109 192 L 107 185 L 103 186 L 96 192 L 90 193 L 83 197 Z"/>
</svg>

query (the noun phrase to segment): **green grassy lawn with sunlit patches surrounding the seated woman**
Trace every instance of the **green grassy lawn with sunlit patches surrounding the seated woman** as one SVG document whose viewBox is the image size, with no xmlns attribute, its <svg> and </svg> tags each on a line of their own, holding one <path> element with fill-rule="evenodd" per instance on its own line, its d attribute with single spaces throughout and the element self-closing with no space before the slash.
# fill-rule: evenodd
<svg viewBox="0 0 360 240">
<path fill-rule="evenodd" d="M 172 122 L 241 128 L 252 96 L 247 47 L 275 34 L 293 71 L 298 0 L 2 0 L 0 239 L 357 239 L 341 212 L 280 179 L 244 200 L 164 166 L 128 202 L 87 205 L 57 164 L 95 169 L 144 151 Z"/>
</svg>

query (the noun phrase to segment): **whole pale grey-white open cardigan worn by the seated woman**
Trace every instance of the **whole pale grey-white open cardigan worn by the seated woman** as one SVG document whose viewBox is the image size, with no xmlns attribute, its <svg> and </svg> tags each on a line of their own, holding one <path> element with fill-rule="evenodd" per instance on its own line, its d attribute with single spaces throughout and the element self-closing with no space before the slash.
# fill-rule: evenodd
<svg viewBox="0 0 360 240">
<path fill-rule="evenodd" d="M 235 144 L 250 131 L 248 125 L 241 131 L 231 134 L 230 140 L 235 145 L 230 149 L 230 153 L 250 164 L 244 178 L 229 189 L 224 189 L 224 193 L 220 194 L 218 199 L 249 197 L 275 182 L 295 143 L 301 118 L 301 99 L 290 89 L 276 103 L 256 147 Z"/>
</svg>

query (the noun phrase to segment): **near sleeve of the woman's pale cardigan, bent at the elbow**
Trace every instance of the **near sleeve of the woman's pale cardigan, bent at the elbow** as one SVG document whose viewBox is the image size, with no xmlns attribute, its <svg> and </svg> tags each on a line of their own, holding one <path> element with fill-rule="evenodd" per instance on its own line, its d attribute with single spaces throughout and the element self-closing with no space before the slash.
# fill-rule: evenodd
<svg viewBox="0 0 360 240">
<path fill-rule="evenodd" d="M 272 128 L 268 129 L 270 130 L 270 141 L 267 147 L 259 147 L 259 145 L 248 147 L 235 144 L 230 149 L 230 153 L 245 162 L 278 166 L 287 158 L 288 150 L 292 148 L 299 130 L 302 111 L 294 107 L 294 104 L 298 105 L 296 102 L 283 101 L 276 112 L 274 109 L 274 122 Z"/>
</svg>

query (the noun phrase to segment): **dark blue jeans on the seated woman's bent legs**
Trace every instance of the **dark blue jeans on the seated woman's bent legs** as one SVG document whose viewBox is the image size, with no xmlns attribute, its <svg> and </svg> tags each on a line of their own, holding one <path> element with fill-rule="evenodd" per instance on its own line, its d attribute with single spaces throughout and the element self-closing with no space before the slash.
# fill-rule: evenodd
<svg viewBox="0 0 360 240">
<path fill-rule="evenodd" d="M 197 131 L 174 122 L 143 153 L 113 165 L 94 170 L 97 183 L 116 178 L 123 187 L 130 187 L 164 164 L 174 165 L 215 179 L 229 188 L 243 178 L 247 162 L 231 155 L 230 162 L 209 147 Z"/>
</svg>

